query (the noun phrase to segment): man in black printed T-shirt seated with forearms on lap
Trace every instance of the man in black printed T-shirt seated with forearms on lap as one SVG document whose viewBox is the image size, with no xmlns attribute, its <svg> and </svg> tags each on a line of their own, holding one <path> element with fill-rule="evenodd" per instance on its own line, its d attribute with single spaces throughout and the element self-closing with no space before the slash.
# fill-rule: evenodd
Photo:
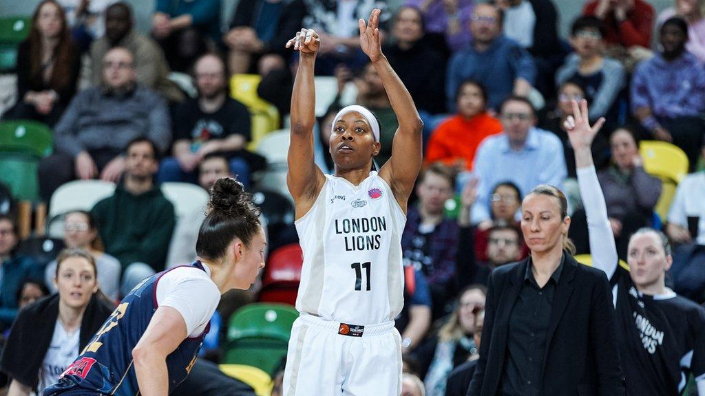
<svg viewBox="0 0 705 396">
<path fill-rule="evenodd" d="M 197 182 L 197 168 L 207 154 L 240 151 L 250 140 L 250 113 L 244 104 L 228 97 L 225 63 L 215 54 L 198 58 L 194 66 L 198 97 L 176 110 L 173 156 L 159 167 L 160 182 Z M 241 156 L 228 161 L 233 175 L 245 187 L 250 167 Z"/>
</svg>

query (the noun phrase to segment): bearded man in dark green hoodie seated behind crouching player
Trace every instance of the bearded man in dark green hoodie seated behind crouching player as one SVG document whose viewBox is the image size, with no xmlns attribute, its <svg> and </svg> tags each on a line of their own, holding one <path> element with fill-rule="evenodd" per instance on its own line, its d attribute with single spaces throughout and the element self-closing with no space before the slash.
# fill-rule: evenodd
<svg viewBox="0 0 705 396">
<path fill-rule="evenodd" d="M 120 288 L 123 296 L 142 279 L 164 269 L 176 224 L 173 204 L 154 184 L 158 155 L 151 140 L 145 137 L 132 140 L 125 154 L 125 175 L 118 182 L 115 194 L 92 209 L 100 224 L 105 252 L 123 266 Z"/>
</svg>

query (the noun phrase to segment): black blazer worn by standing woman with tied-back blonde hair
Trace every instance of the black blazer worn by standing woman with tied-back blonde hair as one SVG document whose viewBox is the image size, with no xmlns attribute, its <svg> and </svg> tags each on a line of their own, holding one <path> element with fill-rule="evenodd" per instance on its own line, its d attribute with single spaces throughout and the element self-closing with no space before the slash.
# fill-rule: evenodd
<svg viewBox="0 0 705 396">
<path fill-rule="evenodd" d="M 489 276 L 480 358 L 467 395 L 496 396 L 501 390 L 509 317 L 527 265 L 528 258 L 498 267 Z M 568 255 L 548 322 L 541 395 L 624 396 L 615 333 L 605 273 Z"/>
</svg>

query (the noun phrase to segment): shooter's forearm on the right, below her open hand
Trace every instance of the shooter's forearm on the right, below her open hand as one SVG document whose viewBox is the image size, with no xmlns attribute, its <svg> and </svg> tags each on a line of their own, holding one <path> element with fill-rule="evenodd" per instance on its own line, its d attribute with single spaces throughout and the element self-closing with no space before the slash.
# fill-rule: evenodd
<svg viewBox="0 0 705 396">
<path fill-rule="evenodd" d="M 421 133 L 422 121 L 416 110 L 414 99 L 387 61 L 386 56 L 381 56 L 373 64 L 399 121 L 399 130 Z"/>
</svg>

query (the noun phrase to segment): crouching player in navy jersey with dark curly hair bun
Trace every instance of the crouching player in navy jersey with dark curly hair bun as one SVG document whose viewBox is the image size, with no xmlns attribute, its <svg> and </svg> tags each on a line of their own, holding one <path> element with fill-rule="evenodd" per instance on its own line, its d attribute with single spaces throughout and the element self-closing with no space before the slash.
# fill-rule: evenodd
<svg viewBox="0 0 705 396">
<path fill-rule="evenodd" d="M 264 266 L 259 209 L 221 178 L 196 243 L 200 261 L 145 279 L 122 300 L 44 395 L 168 395 L 190 372 L 223 293 L 246 290 Z"/>
</svg>

